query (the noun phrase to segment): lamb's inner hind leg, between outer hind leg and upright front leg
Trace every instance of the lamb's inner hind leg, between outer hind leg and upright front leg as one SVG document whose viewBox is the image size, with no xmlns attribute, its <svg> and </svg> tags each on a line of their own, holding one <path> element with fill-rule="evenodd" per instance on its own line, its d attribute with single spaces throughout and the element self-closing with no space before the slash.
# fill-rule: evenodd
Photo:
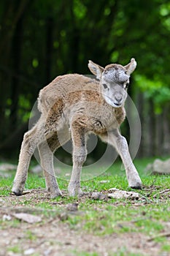
<svg viewBox="0 0 170 256">
<path fill-rule="evenodd" d="M 62 195 L 61 190 L 58 187 L 58 182 L 55 178 L 53 167 L 53 153 L 60 146 L 57 133 L 55 133 L 51 138 L 40 143 L 38 146 L 41 166 L 45 174 L 47 191 L 50 192 L 52 198 Z"/>
</svg>

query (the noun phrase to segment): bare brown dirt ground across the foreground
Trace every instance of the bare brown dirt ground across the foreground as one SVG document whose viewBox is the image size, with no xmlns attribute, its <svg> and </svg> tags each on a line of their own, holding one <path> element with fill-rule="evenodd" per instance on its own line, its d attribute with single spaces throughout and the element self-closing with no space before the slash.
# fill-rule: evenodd
<svg viewBox="0 0 170 256">
<path fill-rule="evenodd" d="M 80 199 L 85 200 L 85 197 Z M 67 206 L 62 205 L 60 214 L 48 219 L 41 208 L 35 203 L 47 202 L 56 204 L 47 199 L 45 189 L 32 189 L 26 195 L 15 197 L 9 195 L 0 198 L 0 255 L 45 255 L 45 256 L 73 256 L 73 255 L 152 255 L 168 256 L 160 252 L 160 244 L 150 240 L 143 233 L 112 233 L 107 236 L 94 236 L 82 232 L 81 228 L 72 229 L 68 223 L 63 222 Z M 26 206 L 26 202 L 28 206 Z M 30 203 L 31 202 L 31 203 Z M 68 211 L 67 211 L 68 212 Z M 79 212 L 79 211 L 77 211 Z M 39 216 L 40 222 L 28 223 L 21 220 L 15 224 L 15 214 L 25 213 Z M 165 231 L 168 231 L 170 222 Z M 170 240 L 169 240 L 170 241 Z M 85 254 L 89 253 L 89 254 Z"/>
</svg>

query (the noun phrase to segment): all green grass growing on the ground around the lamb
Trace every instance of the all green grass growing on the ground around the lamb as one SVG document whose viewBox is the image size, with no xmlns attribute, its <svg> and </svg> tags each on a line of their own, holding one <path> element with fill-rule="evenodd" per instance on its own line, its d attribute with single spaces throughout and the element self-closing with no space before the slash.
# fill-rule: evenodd
<svg viewBox="0 0 170 256">
<path fill-rule="evenodd" d="M 146 176 L 143 173 L 144 167 L 150 162 L 150 159 L 136 160 L 136 167 L 142 178 L 142 182 L 146 188 L 139 192 L 140 200 L 115 200 L 107 201 L 93 200 L 90 197 L 80 199 L 78 197 L 58 197 L 54 200 L 32 200 L 27 197 L 17 204 L 22 206 L 34 206 L 41 208 L 45 217 L 54 217 L 56 213 L 65 211 L 66 205 L 77 202 L 79 204 L 80 214 L 69 214 L 63 222 L 69 225 L 70 229 L 85 233 L 90 233 L 95 236 L 108 236 L 112 233 L 143 233 L 148 238 L 153 238 L 155 243 L 161 244 L 161 252 L 170 252 L 169 240 L 166 236 L 159 237 L 166 230 L 166 223 L 169 222 L 170 202 L 169 195 L 161 195 L 164 189 L 169 189 L 170 176 Z M 101 176 L 82 181 L 82 189 L 85 191 L 104 192 L 111 187 L 117 189 L 131 190 L 128 188 L 128 182 L 125 177 L 125 171 L 120 170 L 121 163 L 116 162 L 115 165 L 109 168 L 106 173 Z M 10 178 L 0 178 L 0 195 L 1 198 L 9 196 L 12 188 L 12 181 L 15 173 Z M 107 181 L 101 183 L 101 181 Z M 61 190 L 66 191 L 68 182 L 63 179 L 58 179 Z M 26 189 L 45 188 L 45 178 L 42 176 L 28 175 L 26 181 Z M 17 197 L 18 198 L 18 197 Z M 13 203 L 13 202 L 12 202 Z M 1 204 L 1 202 L 0 202 Z M 15 226 L 16 220 L 10 222 L 10 225 Z M 7 224 L 8 225 L 8 224 Z M 4 228 L 4 224 L 3 227 Z M 28 231 L 26 236 L 29 240 L 36 239 L 34 233 Z M 10 248 L 12 252 L 17 252 L 17 248 Z M 73 252 L 73 255 L 89 255 L 96 256 L 96 252 Z M 112 255 L 112 254 L 111 254 Z M 127 255 L 127 249 L 122 247 L 115 255 Z M 131 256 L 140 254 L 128 253 Z"/>
</svg>

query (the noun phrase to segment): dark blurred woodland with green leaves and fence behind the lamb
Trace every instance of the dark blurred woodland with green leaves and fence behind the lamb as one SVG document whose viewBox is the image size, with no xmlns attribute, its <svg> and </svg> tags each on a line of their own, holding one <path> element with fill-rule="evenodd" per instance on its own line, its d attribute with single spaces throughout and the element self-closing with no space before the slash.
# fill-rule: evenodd
<svg viewBox="0 0 170 256">
<path fill-rule="evenodd" d="M 129 94 L 142 122 L 138 157 L 170 149 L 170 1 L 1 0 L 0 157 L 18 154 L 39 90 L 57 75 L 138 63 Z M 122 127 L 128 134 L 128 122 Z M 93 152 L 100 154 L 103 146 Z"/>
</svg>

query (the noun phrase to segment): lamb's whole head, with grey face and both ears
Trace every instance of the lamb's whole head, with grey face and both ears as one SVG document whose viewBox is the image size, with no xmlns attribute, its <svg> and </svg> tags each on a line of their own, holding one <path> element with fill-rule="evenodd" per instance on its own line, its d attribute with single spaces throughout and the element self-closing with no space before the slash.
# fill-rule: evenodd
<svg viewBox="0 0 170 256">
<path fill-rule="evenodd" d="M 100 80 L 101 94 L 109 105 L 120 108 L 124 105 L 127 97 L 129 78 L 136 68 L 135 59 L 126 66 L 109 64 L 105 68 L 89 61 L 90 71 Z"/>
</svg>

